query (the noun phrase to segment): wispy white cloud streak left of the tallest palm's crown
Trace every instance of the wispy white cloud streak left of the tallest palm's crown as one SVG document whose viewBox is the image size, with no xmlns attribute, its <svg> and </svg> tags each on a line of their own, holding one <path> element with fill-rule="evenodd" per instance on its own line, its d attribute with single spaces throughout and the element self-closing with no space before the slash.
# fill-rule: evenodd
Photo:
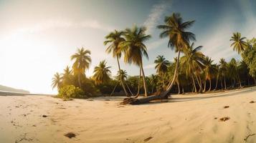
<svg viewBox="0 0 256 143">
<path fill-rule="evenodd" d="M 148 33 L 151 34 L 153 29 L 156 28 L 157 22 L 160 20 L 163 12 L 170 6 L 171 1 L 161 1 L 158 4 L 153 5 L 151 13 L 148 15 L 148 19 L 144 22 L 144 26 L 148 28 Z"/>
</svg>

